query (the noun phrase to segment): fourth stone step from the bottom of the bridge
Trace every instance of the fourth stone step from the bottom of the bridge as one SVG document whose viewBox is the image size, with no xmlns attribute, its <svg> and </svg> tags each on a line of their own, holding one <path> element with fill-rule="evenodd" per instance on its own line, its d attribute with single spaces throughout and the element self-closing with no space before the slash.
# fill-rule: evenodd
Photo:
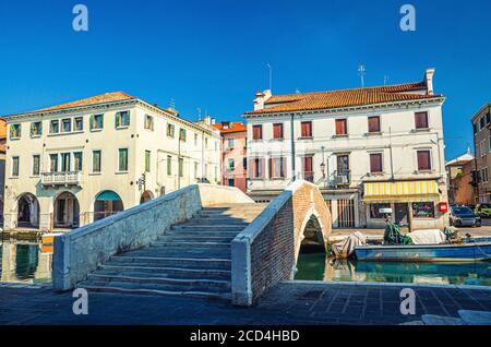
<svg viewBox="0 0 491 347">
<path fill-rule="evenodd" d="M 230 270 L 231 260 L 223 258 L 155 258 L 155 256 L 123 256 L 115 255 L 110 260 L 111 265 L 132 266 L 169 266 L 182 268 Z"/>
</svg>

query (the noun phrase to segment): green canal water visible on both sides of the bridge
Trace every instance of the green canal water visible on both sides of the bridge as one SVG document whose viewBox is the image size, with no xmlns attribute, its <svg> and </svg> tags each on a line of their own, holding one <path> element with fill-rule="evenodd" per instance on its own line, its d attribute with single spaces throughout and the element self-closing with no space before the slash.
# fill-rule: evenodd
<svg viewBox="0 0 491 347">
<path fill-rule="evenodd" d="M 52 248 L 39 240 L 2 239 L 0 282 L 49 284 Z M 491 263 L 375 263 L 301 253 L 295 279 L 491 286 Z"/>
</svg>

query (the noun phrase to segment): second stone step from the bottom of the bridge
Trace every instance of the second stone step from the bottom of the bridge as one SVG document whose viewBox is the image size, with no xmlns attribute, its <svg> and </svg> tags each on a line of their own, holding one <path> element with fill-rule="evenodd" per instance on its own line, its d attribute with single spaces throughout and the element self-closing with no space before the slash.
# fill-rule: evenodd
<svg viewBox="0 0 491 347">
<path fill-rule="evenodd" d="M 165 289 L 175 290 L 178 288 L 182 290 L 192 288 L 193 290 L 202 290 L 202 291 L 223 291 L 230 290 L 230 282 L 223 279 L 203 279 L 203 278 L 172 278 L 172 277 L 157 277 L 157 276 L 148 276 L 144 274 L 144 276 L 135 276 L 129 274 L 121 275 L 106 275 L 100 274 L 99 272 L 88 274 L 87 282 L 105 282 L 105 283 L 124 283 L 124 284 L 142 284 L 145 286 L 155 285 L 155 286 L 166 286 Z"/>
</svg>

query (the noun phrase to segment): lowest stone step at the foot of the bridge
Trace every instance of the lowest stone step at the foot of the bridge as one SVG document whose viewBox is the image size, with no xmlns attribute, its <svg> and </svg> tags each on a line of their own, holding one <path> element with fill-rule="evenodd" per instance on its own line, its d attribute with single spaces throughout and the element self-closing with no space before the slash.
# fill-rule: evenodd
<svg viewBox="0 0 491 347">
<path fill-rule="evenodd" d="M 230 300 L 230 292 L 208 292 L 208 291 L 192 291 L 192 290 L 160 290 L 153 288 L 141 288 L 128 286 L 118 286 L 117 283 L 110 285 L 84 284 L 83 288 L 89 291 L 98 292 L 118 292 L 118 294 L 133 294 L 133 295 L 151 295 L 151 296 L 179 296 L 179 297 L 195 297 L 206 299 L 224 299 Z"/>
</svg>

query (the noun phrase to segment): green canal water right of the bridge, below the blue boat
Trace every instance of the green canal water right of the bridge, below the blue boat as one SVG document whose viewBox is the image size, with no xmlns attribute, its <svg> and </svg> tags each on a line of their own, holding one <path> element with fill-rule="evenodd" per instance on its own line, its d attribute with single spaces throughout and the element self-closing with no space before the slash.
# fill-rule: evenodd
<svg viewBox="0 0 491 347">
<path fill-rule="evenodd" d="M 301 253 L 295 279 L 491 286 L 491 263 L 407 263 L 334 260 Z"/>
</svg>

